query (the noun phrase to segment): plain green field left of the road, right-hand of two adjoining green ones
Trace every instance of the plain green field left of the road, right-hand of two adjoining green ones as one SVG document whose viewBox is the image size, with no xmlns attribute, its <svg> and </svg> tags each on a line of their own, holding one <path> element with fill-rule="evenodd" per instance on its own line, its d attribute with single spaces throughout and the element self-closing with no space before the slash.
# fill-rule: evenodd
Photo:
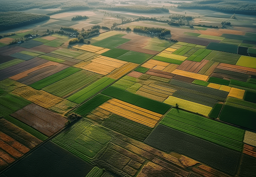
<svg viewBox="0 0 256 177">
<path fill-rule="evenodd" d="M 129 52 L 126 52 L 126 53 L 120 55 L 116 59 L 141 64 L 152 56 L 153 55 L 150 55 L 150 54 L 147 54 L 147 53 L 129 51 Z"/>
</svg>

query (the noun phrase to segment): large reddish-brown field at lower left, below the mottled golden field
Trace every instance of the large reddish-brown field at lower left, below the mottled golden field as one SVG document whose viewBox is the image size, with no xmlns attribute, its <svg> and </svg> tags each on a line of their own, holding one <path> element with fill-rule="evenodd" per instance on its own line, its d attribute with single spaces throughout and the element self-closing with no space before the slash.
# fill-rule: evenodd
<svg viewBox="0 0 256 177">
<path fill-rule="evenodd" d="M 36 104 L 30 104 L 11 114 L 11 116 L 37 129 L 46 136 L 52 136 L 63 127 L 67 119 L 44 109 Z"/>
</svg>

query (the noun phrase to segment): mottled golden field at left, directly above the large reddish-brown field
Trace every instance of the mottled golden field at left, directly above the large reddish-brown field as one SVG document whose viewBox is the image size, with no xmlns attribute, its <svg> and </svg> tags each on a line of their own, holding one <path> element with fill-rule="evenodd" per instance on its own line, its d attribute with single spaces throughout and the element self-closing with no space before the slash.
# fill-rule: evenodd
<svg viewBox="0 0 256 177">
<path fill-rule="evenodd" d="M 21 96 L 22 98 L 46 109 L 53 107 L 54 105 L 64 100 L 63 98 L 59 98 L 58 96 L 54 96 L 43 90 L 35 90 L 28 86 L 15 89 L 11 93 Z"/>
</svg>

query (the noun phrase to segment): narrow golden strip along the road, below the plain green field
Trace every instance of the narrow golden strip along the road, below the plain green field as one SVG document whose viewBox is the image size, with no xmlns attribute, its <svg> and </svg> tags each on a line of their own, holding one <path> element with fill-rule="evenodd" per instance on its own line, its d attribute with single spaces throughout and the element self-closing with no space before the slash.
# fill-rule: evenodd
<svg viewBox="0 0 256 177">
<path fill-rule="evenodd" d="M 134 70 L 137 66 L 139 66 L 139 64 L 128 62 L 125 65 L 115 69 L 113 72 L 108 74 L 108 77 L 112 79 L 119 79 L 120 77 L 124 76 L 128 72 Z"/>
</svg>

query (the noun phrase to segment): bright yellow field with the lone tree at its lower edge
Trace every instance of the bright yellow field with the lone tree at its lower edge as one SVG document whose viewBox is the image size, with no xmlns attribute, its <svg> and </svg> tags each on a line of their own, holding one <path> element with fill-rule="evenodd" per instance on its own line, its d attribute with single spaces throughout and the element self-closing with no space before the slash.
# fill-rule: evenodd
<svg viewBox="0 0 256 177">
<path fill-rule="evenodd" d="M 211 112 L 211 107 L 201 105 L 198 103 L 194 103 L 192 101 L 182 100 L 180 98 L 176 98 L 174 96 L 169 96 L 165 101 L 163 101 L 166 104 L 175 106 L 176 103 L 179 105 L 179 108 L 185 109 L 187 111 L 195 112 L 198 114 L 202 114 L 204 116 L 208 116 L 208 114 Z"/>
</svg>

